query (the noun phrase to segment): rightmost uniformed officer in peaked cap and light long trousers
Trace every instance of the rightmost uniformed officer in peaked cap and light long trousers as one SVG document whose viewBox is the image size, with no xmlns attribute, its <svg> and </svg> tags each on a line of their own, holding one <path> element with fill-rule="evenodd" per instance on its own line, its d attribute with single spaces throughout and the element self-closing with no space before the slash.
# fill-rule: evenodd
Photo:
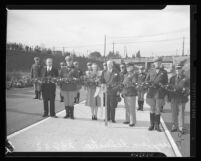
<svg viewBox="0 0 201 161">
<path fill-rule="evenodd" d="M 177 91 L 189 90 L 189 79 L 182 72 L 182 63 L 175 67 L 176 74 L 170 78 L 169 84 Z M 172 109 L 172 132 L 179 130 L 184 133 L 184 111 L 188 102 L 188 95 L 178 92 L 170 92 L 168 95 Z M 178 121 L 179 120 L 179 121 Z"/>
</svg>

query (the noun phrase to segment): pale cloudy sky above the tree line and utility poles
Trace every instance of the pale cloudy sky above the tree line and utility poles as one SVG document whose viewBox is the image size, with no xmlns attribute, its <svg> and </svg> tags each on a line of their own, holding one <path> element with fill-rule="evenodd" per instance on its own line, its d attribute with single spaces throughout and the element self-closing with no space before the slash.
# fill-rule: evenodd
<svg viewBox="0 0 201 161">
<path fill-rule="evenodd" d="M 190 6 L 163 10 L 8 10 L 7 42 L 39 45 L 87 56 L 190 54 Z"/>
</svg>

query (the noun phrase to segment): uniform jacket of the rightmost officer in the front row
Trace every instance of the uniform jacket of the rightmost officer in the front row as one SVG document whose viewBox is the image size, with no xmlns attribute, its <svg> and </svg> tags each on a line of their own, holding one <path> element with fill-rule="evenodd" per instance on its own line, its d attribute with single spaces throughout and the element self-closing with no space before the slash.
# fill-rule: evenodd
<svg viewBox="0 0 201 161">
<path fill-rule="evenodd" d="M 179 75 L 179 78 L 177 77 L 177 75 L 173 75 L 170 78 L 169 84 L 174 87 L 177 90 L 182 90 L 183 88 L 190 88 L 190 83 L 188 82 L 188 80 L 185 78 L 185 76 L 183 74 Z M 177 94 L 175 92 L 170 92 L 168 94 L 168 98 L 169 99 L 179 99 L 181 101 L 181 103 L 186 103 L 188 102 L 188 96 L 183 96 L 181 94 Z"/>
</svg>

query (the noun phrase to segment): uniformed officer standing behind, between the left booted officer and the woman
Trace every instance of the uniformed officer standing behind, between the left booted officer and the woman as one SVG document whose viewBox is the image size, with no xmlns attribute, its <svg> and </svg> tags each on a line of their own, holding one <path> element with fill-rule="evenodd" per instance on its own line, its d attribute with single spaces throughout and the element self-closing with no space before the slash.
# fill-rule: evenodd
<svg viewBox="0 0 201 161">
<path fill-rule="evenodd" d="M 77 62 L 77 61 L 75 61 L 74 63 L 73 63 L 73 65 L 74 65 L 74 67 L 75 67 L 75 69 L 77 70 L 77 72 L 78 72 L 78 77 L 79 77 L 79 79 L 81 80 L 82 79 L 82 77 L 83 77 L 83 75 L 84 75 L 84 73 L 83 73 L 83 71 L 80 69 L 80 67 L 79 67 L 79 62 Z M 76 95 L 76 97 L 75 97 L 75 103 L 79 103 L 79 101 L 80 101 L 80 89 L 82 88 L 82 84 L 81 84 L 81 81 L 80 82 L 78 82 L 78 84 L 77 84 L 77 95 Z"/>
</svg>

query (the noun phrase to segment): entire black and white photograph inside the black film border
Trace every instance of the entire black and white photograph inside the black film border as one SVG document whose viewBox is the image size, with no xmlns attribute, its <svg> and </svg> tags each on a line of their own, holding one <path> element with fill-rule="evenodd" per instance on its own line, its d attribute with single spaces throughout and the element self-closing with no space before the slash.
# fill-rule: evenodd
<svg viewBox="0 0 201 161">
<path fill-rule="evenodd" d="M 5 154 L 191 157 L 190 7 L 7 8 Z"/>
</svg>

